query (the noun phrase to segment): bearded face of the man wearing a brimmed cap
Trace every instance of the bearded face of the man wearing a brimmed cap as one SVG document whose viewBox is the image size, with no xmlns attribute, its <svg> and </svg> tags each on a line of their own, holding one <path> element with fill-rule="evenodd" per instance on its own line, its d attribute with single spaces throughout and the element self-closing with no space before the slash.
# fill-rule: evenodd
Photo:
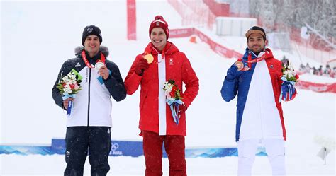
<svg viewBox="0 0 336 176">
<path fill-rule="evenodd" d="M 259 33 L 253 33 L 247 39 L 247 47 L 254 53 L 262 52 L 268 41 Z"/>
</svg>

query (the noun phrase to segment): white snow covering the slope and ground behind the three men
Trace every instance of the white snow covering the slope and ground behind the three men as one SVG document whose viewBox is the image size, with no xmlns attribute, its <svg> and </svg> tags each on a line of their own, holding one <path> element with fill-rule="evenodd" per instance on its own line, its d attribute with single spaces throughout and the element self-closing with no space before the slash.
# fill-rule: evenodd
<svg viewBox="0 0 336 176">
<path fill-rule="evenodd" d="M 86 25 L 97 25 L 103 35 L 102 45 L 125 78 L 135 56 L 150 41 L 148 28 L 160 14 L 169 28 L 184 28 L 181 16 L 167 1 L 137 1 L 137 39 L 128 41 L 125 1 L 1 1 L 0 28 L 0 145 L 50 146 L 51 139 L 65 139 L 67 115 L 52 100 L 51 89 L 60 66 L 74 57 L 74 48 L 81 45 Z M 189 26 L 190 27 L 190 26 Z M 244 37 L 218 37 L 221 45 L 245 51 Z M 235 104 L 220 96 L 226 70 L 235 61 L 213 52 L 196 38 L 169 38 L 186 54 L 199 78 L 198 96 L 186 112 L 186 148 L 236 147 Z M 298 68 L 301 63 L 319 63 L 297 52 L 273 51 L 276 58 L 284 54 Z M 299 57 L 301 59 L 299 59 Z M 305 81 L 334 83 L 335 79 L 311 75 Z M 111 135 L 113 140 L 142 141 L 138 136 L 139 90 L 125 100 L 113 100 Z M 298 89 L 296 99 L 283 103 L 287 130 L 287 175 L 335 175 L 335 93 L 316 93 Z M 317 156 L 325 146 L 332 148 L 326 160 Z M 108 175 L 145 175 L 145 158 L 117 156 L 108 159 Z M 186 158 L 191 176 L 236 175 L 237 157 Z M 0 175 L 62 175 L 64 155 L 0 155 Z M 168 175 L 169 163 L 163 158 L 163 172 Z M 89 175 L 86 160 L 84 175 Z M 266 156 L 257 156 L 253 175 L 271 175 Z"/>
</svg>

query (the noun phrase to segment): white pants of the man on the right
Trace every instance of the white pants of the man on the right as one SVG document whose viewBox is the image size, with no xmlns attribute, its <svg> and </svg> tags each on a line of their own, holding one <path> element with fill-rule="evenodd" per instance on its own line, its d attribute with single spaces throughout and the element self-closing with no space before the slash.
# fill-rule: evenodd
<svg viewBox="0 0 336 176">
<path fill-rule="evenodd" d="M 258 144 L 264 145 L 272 175 L 284 176 L 285 170 L 285 141 L 283 139 L 248 139 L 238 141 L 238 176 L 250 176 Z"/>
</svg>

